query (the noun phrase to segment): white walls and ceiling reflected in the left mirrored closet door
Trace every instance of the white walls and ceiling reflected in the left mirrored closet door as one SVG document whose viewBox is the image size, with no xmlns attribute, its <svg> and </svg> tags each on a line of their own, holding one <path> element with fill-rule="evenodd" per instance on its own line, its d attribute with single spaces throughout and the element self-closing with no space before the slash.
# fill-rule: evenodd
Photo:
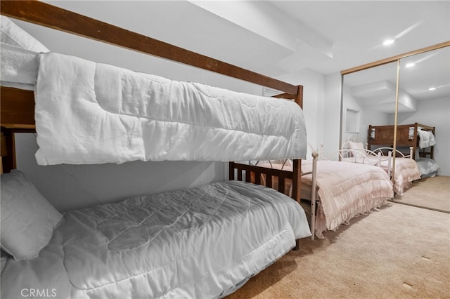
<svg viewBox="0 0 450 299">
<path fill-rule="evenodd" d="M 394 124 L 396 86 L 397 62 L 345 74 L 341 149 L 349 148 L 349 141 L 362 142 L 369 150 L 380 147 L 368 128 Z M 394 128 L 390 134 L 393 132 Z"/>
</svg>

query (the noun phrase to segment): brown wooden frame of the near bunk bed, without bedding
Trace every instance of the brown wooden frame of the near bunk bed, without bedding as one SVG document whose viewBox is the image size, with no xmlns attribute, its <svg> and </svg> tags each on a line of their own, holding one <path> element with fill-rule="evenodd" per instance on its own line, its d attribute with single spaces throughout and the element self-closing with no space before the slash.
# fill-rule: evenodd
<svg viewBox="0 0 450 299">
<path fill-rule="evenodd" d="M 67 11 L 63 8 L 39 1 L 1 1 L 1 14 L 25 22 L 31 22 L 44 27 L 84 36 L 89 39 L 121 46 L 132 51 L 155 55 L 186 65 L 207 69 L 211 72 L 217 72 L 261 86 L 274 88 L 283 92 L 280 95 L 276 95 L 276 98 L 295 100 L 302 107 L 303 86 L 301 85 L 294 86 L 287 84 L 283 81 L 249 71 L 248 69 L 236 67 L 142 34 L 130 32 L 126 29 Z M 0 111 L 1 169 L 2 172 L 7 173 L 11 169 L 16 168 L 14 133 L 35 132 L 34 93 L 32 91 L 2 86 Z M 268 187 L 271 186 L 273 176 L 276 176 L 280 182 L 283 182 L 285 178 L 293 180 L 293 198 L 300 202 L 301 160 L 294 161 L 293 172 L 276 171 L 269 168 L 237 164 L 234 162 L 230 162 L 229 164 L 230 180 L 237 178 L 238 180 L 260 184 L 261 182 L 258 178 L 260 178 L 261 173 L 267 175 L 266 185 Z M 284 184 L 281 183 L 278 185 L 278 191 L 283 192 Z"/>
</svg>

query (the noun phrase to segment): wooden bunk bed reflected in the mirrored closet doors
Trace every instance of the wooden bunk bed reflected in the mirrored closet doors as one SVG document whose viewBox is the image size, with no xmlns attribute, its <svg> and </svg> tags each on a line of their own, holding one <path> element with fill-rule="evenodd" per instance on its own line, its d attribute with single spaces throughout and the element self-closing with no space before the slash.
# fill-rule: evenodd
<svg viewBox="0 0 450 299">
<path fill-rule="evenodd" d="M 368 126 L 367 149 L 373 147 L 394 146 L 394 125 Z M 413 147 L 412 159 L 419 157 L 433 159 L 435 140 L 435 127 L 424 124 L 397 125 L 397 148 Z"/>
</svg>

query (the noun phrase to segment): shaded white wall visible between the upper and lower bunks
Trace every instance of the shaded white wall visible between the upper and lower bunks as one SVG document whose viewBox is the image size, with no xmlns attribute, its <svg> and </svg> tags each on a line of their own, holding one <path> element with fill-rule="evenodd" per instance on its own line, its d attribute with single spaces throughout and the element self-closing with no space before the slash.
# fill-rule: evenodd
<svg viewBox="0 0 450 299">
<path fill-rule="evenodd" d="M 18 169 L 59 211 L 221 181 L 226 167 L 195 161 L 38 166 L 36 138 L 30 133 L 16 134 L 16 148 Z"/>
</svg>

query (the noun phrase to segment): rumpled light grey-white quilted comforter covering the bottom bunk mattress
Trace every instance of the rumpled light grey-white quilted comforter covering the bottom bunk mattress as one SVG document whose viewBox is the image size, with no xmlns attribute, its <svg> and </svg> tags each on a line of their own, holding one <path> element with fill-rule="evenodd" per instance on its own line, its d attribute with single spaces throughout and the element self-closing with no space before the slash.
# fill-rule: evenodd
<svg viewBox="0 0 450 299">
<path fill-rule="evenodd" d="M 260 185 L 134 197 L 66 213 L 38 258 L 8 260 L 1 298 L 217 298 L 310 234 L 300 204 Z"/>
</svg>

